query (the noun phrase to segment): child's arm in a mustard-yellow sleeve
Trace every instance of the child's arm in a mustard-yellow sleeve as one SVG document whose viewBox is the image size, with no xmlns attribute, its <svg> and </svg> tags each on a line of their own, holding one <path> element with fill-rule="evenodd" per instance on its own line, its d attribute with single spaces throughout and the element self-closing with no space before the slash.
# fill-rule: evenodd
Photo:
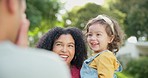
<svg viewBox="0 0 148 78">
<path fill-rule="evenodd" d="M 99 78 L 113 78 L 116 57 L 110 52 L 104 52 L 99 55 L 96 59 L 97 71 Z"/>
</svg>

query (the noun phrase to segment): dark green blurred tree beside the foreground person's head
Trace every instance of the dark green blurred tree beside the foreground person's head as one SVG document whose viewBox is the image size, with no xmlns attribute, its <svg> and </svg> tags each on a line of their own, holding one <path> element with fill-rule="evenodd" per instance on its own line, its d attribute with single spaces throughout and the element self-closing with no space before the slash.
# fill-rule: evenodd
<svg viewBox="0 0 148 78">
<path fill-rule="evenodd" d="M 42 30 L 52 28 L 57 20 L 55 14 L 58 13 L 60 7 L 57 0 L 27 0 L 26 14 L 31 22 L 30 30 L 36 27 Z M 42 21 L 48 26 L 42 26 Z"/>
</svg>

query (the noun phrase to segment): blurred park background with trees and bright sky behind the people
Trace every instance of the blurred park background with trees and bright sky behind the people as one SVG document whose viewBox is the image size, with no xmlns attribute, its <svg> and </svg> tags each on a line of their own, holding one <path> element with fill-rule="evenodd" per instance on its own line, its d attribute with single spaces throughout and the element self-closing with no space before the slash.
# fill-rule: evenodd
<svg viewBox="0 0 148 78">
<path fill-rule="evenodd" d="M 148 0 L 26 0 L 29 45 L 53 27 L 78 27 L 99 14 L 116 19 L 125 40 L 117 58 L 123 65 L 118 78 L 148 78 Z M 90 52 L 91 53 L 91 52 Z"/>
</svg>

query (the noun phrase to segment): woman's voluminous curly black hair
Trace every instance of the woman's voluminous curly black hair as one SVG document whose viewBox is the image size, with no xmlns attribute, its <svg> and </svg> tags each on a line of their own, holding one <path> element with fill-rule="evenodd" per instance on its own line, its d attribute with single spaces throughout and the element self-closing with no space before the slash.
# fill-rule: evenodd
<svg viewBox="0 0 148 78">
<path fill-rule="evenodd" d="M 87 48 L 83 33 L 78 28 L 55 27 L 43 35 L 36 47 L 52 51 L 54 42 L 63 34 L 70 34 L 73 37 L 75 41 L 75 55 L 71 61 L 71 65 L 81 68 L 83 61 L 87 59 Z"/>
</svg>

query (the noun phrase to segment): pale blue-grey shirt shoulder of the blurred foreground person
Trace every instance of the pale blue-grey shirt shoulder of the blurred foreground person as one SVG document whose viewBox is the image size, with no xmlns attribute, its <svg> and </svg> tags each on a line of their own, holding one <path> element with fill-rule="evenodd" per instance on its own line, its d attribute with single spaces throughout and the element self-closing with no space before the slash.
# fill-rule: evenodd
<svg viewBox="0 0 148 78">
<path fill-rule="evenodd" d="M 70 78 L 69 69 L 53 52 L 0 43 L 0 78 Z"/>
</svg>

